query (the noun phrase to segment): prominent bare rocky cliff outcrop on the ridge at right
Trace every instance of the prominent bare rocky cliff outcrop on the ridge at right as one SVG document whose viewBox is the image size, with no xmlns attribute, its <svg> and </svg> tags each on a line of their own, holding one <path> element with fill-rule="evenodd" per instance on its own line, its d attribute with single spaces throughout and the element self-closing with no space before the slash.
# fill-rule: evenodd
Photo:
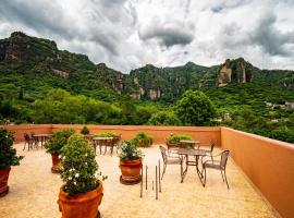
<svg viewBox="0 0 294 218">
<path fill-rule="evenodd" d="M 254 66 L 243 58 L 235 60 L 226 59 L 218 70 L 218 86 L 225 86 L 231 82 L 252 82 Z"/>
</svg>

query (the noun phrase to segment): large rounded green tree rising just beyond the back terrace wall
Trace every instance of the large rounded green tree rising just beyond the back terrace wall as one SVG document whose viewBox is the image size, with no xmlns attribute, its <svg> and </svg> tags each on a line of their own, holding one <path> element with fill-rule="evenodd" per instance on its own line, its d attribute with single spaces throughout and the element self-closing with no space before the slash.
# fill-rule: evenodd
<svg viewBox="0 0 294 218">
<path fill-rule="evenodd" d="M 176 102 L 175 111 L 185 125 L 208 125 L 216 114 L 209 97 L 199 90 L 186 90 Z"/>
</svg>

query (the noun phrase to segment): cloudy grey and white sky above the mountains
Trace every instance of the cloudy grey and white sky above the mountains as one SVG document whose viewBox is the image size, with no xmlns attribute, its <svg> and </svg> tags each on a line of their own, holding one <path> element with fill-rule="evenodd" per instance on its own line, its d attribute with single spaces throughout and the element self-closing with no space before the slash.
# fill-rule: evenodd
<svg viewBox="0 0 294 218">
<path fill-rule="evenodd" d="M 0 37 L 22 31 L 128 73 L 244 57 L 294 70 L 294 0 L 1 0 Z"/>
</svg>

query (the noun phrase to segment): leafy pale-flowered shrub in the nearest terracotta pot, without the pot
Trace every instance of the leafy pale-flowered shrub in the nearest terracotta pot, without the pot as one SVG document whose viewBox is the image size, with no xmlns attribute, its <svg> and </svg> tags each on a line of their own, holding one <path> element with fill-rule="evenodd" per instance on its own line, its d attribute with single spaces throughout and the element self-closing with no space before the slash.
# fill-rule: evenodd
<svg viewBox="0 0 294 218">
<path fill-rule="evenodd" d="M 64 192 L 70 195 L 95 190 L 101 175 L 95 160 L 95 150 L 83 136 L 72 135 L 68 144 L 61 148 L 61 179 Z M 102 180 L 106 177 L 102 175 Z"/>
</svg>

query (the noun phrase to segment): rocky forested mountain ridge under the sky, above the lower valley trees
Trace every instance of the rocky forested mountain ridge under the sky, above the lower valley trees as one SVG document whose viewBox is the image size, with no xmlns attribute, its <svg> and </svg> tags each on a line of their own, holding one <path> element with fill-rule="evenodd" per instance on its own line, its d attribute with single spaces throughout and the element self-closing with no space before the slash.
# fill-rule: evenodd
<svg viewBox="0 0 294 218">
<path fill-rule="evenodd" d="M 93 63 L 87 56 L 59 50 L 52 40 L 21 32 L 0 39 L 0 90 L 4 95 L 17 95 L 23 88 L 32 100 L 60 87 L 91 97 L 124 94 L 135 99 L 173 102 L 189 88 L 208 89 L 252 82 L 291 88 L 294 73 L 259 70 L 240 58 L 210 68 L 193 62 L 175 68 L 147 64 L 123 74 L 105 63 Z"/>
</svg>

